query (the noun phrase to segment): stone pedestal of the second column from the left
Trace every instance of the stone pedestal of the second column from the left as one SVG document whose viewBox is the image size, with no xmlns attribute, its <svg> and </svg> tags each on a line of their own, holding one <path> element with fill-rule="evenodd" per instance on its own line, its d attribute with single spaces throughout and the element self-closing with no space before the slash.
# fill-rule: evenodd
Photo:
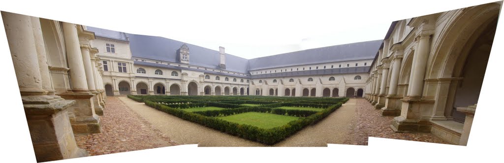
<svg viewBox="0 0 504 163">
<path fill-rule="evenodd" d="M 100 117 L 95 113 L 95 96 L 89 91 L 67 92 L 60 94 L 65 99 L 75 100 L 76 103 L 69 107 L 75 118 L 70 118 L 74 133 L 99 133 L 101 132 Z"/>
</svg>

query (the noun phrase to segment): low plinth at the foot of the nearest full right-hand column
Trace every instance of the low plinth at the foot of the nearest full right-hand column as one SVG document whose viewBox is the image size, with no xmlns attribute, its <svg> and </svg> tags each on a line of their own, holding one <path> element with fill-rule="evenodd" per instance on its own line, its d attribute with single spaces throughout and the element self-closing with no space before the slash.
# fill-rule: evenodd
<svg viewBox="0 0 504 163">
<path fill-rule="evenodd" d="M 402 116 L 394 117 L 390 126 L 394 132 L 430 132 L 432 127 L 428 120 L 406 119 Z"/>
</svg>

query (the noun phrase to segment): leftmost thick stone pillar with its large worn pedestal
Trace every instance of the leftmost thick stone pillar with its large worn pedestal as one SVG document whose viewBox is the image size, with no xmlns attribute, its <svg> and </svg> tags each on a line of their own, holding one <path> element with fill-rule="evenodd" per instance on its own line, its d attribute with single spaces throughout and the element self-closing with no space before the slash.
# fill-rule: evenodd
<svg viewBox="0 0 504 163">
<path fill-rule="evenodd" d="M 38 18 L 2 12 L 11 57 L 25 110 L 35 157 L 38 162 L 88 156 L 75 142 L 67 108 L 75 103 L 48 95 L 48 67 L 41 67 L 45 54 Z M 45 50 L 45 49 L 44 49 Z M 39 56 L 41 58 L 39 58 Z M 43 68 L 44 70 L 42 70 Z M 42 77 L 41 75 L 47 75 Z"/>
</svg>

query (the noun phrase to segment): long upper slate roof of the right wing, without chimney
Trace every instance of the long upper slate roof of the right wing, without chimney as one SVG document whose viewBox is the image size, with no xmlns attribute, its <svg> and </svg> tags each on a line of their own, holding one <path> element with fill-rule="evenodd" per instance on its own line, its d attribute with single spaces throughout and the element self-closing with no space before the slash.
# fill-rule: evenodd
<svg viewBox="0 0 504 163">
<path fill-rule="evenodd" d="M 382 42 L 374 40 L 254 58 L 248 60 L 248 70 L 373 59 Z"/>
</svg>

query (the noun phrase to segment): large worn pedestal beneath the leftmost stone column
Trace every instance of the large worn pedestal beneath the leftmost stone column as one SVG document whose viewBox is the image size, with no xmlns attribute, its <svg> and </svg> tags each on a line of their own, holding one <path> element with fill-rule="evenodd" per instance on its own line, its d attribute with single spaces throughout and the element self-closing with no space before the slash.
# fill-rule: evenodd
<svg viewBox="0 0 504 163">
<path fill-rule="evenodd" d="M 59 96 L 23 98 L 26 120 L 37 162 L 89 156 L 77 146 L 67 108 L 75 101 Z"/>
</svg>

